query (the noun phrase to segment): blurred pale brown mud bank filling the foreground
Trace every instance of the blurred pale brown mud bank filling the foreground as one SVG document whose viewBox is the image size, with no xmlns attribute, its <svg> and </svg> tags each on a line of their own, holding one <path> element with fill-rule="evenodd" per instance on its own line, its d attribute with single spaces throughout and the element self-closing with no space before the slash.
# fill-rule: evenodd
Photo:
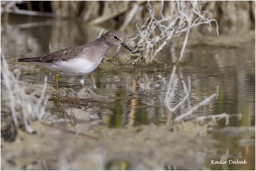
<svg viewBox="0 0 256 171">
<path fill-rule="evenodd" d="M 122 162 L 131 170 L 163 170 L 171 165 L 200 169 L 205 157 L 214 155 L 216 143 L 210 136 L 200 136 L 198 130 L 206 129 L 198 126 L 189 126 L 194 134 L 154 125 L 118 129 L 94 126 L 81 131 L 96 140 L 66 133 L 68 125 L 53 128 L 33 122 L 33 126 L 38 130 L 35 135 L 18 131 L 14 142 L 1 140 L 1 169 L 104 170 L 121 169 Z"/>
</svg>

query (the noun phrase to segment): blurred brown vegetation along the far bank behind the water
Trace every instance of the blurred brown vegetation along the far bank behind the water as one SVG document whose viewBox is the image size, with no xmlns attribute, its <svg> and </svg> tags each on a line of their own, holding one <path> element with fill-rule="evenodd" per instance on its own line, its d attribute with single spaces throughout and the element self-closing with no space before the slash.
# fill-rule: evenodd
<svg viewBox="0 0 256 171">
<path fill-rule="evenodd" d="M 151 1 L 156 17 L 161 1 Z M 255 29 L 255 1 L 202 1 L 202 14 L 215 18 L 220 34 L 248 32 Z M 163 14 L 170 15 L 173 1 L 164 1 Z M 135 28 L 149 16 L 146 1 L 1 1 L 1 16 L 8 13 L 74 18 L 80 22 L 100 24 L 108 29 Z M 200 28 L 201 33 L 208 30 Z"/>
</svg>

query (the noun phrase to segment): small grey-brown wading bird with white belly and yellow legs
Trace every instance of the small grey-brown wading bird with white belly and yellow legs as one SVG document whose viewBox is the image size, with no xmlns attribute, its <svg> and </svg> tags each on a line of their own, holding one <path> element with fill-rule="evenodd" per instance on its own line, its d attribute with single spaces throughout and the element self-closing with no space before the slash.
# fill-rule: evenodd
<svg viewBox="0 0 256 171">
<path fill-rule="evenodd" d="M 84 76 L 97 68 L 103 55 L 114 45 L 121 45 L 131 51 L 123 42 L 122 34 L 116 30 L 110 30 L 91 43 L 62 49 L 39 57 L 20 58 L 17 59 L 17 62 L 35 63 L 58 73 L 55 75 L 56 90 L 58 90 L 58 78 L 61 74 L 78 76 L 82 87 L 84 87 Z"/>
</svg>

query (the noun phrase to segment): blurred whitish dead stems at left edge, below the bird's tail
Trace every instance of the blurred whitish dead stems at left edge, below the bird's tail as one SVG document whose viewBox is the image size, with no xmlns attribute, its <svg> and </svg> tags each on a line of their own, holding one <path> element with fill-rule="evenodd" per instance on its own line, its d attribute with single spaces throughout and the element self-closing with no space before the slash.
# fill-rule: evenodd
<svg viewBox="0 0 256 171">
<path fill-rule="evenodd" d="M 47 106 L 48 101 L 48 96 L 44 97 L 47 88 L 47 77 L 45 77 L 41 97 L 37 99 L 33 94 L 26 94 L 25 87 L 20 84 L 19 80 L 15 78 L 14 74 L 9 70 L 9 66 L 2 51 L 1 59 L 1 73 L 3 74 L 4 86 L 6 87 L 6 92 L 9 96 L 9 107 L 16 128 L 19 126 L 18 118 L 22 119 L 28 133 L 35 132 L 31 127 L 33 120 L 38 119 L 40 122 L 45 122 L 47 124 L 67 122 L 67 120 L 58 119 L 56 116 L 51 116 L 51 114 L 45 112 L 45 107 Z"/>
</svg>

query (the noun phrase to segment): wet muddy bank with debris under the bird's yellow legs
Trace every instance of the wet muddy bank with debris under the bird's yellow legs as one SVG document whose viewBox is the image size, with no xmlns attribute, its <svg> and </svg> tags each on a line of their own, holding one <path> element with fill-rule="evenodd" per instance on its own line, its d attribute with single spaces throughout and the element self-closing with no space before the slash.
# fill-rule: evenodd
<svg viewBox="0 0 256 171">
<path fill-rule="evenodd" d="M 29 96 L 32 96 L 31 99 L 38 103 L 40 99 L 48 99 L 45 106 L 43 105 L 44 101 L 41 101 L 41 108 L 45 107 L 47 117 L 52 116 L 53 118 L 64 119 L 62 121 L 69 122 L 72 125 L 79 122 L 100 124 L 98 114 L 104 114 L 105 111 L 100 112 L 98 107 L 94 106 L 93 103 L 111 102 L 107 96 L 94 93 L 91 87 L 84 87 L 75 92 L 72 88 L 61 88 L 59 91 L 56 91 L 53 86 L 47 85 L 43 97 L 41 97 L 43 84 L 21 82 L 20 87 L 24 88 L 25 96 L 28 96 L 26 98 L 23 97 L 24 100 L 28 99 Z M 23 90 L 21 89 L 21 91 Z M 85 104 L 87 107 L 81 107 L 80 104 Z M 16 109 L 18 125 L 22 130 L 25 130 L 23 123 L 24 117 L 29 117 L 29 119 L 31 117 L 32 120 L 37 120 L 37 116 L 39 115 L 35 113 L 24 116 L 24 111 L 26 112 L 22 107 L 17 107 Z M 17 134 L 17 128 L 15 128 L 12 119 L 10 98 L 5 86 L 1 86 L 1 118 L 1 137 L 6 141 L 13 141 Z"/>
</svg>

